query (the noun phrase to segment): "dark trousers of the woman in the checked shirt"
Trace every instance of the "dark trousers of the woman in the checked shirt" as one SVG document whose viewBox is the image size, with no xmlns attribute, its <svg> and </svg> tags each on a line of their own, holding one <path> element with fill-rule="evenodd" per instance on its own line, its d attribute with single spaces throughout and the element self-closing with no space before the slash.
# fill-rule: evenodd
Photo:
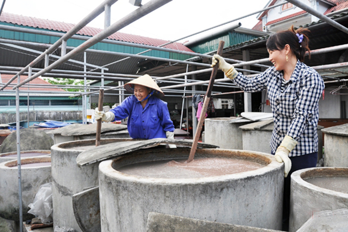
<svg viewBox="0 0 348 232">
<path fill-rule="evenodd" d="M 318 153 L 310 153 L 289 157 L 291 169 L 284 179 L 284 198 L 283 198 L 283 231 L 289 230 L 289 211 L 290 211 L 290 176 L 291 173 L 303 168 L 315 167 L 317 165 Z"/>
</svg>

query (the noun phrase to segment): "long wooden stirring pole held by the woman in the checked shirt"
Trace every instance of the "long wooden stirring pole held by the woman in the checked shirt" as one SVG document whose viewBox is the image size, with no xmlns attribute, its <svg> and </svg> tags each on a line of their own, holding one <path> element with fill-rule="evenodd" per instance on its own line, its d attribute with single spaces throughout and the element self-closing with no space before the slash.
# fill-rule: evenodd
<svg viewBox="0 0 348 232">
<path fill-rule="evenodd" d="M 218 47 L 218 50 L 217 50 L 217 54 L 220 55 L 220 56 L 222 55 L 222 50 L 224 48 L 224 44 L 225 44 L 224 41 L 220 41 L 219 42 L 219 47 Z M 216 77 L 216 73 L 218 71 L 218 67 L 219 67 L 219 64 L 216 64 L 214 66 L 214 68 L 213 68 L 213 71 L 211 72 L 211 76 L 210 76 L 207 92 L 205 94 L 205 98 L 204 98 L 204 102 L 203 102 L 202 111 L 200 113 L 200 117 L 199 117 L 199 120 L 198 120 L 196 134 L 194 136 L 194 140 L 193 140 L 193 143 L 192 143 L 190 155 L 188 156 L 188 159 L 187 159 L 186 162 L 191 162 L 193 160 L 194 154 L 196 153 L 198 139 L 200 137 L 200 132 L 202 131 L 203 122 L 204 122 L 204 119 L 205 119 L 205 113 L 207 112 L 207 108 L 208 108 L 208 104 L 209 104 L 210 96 L 211 96 L 211 91 L 213 89 L 214 80 L 215 80 L 215 77 Z"/>
</svg>

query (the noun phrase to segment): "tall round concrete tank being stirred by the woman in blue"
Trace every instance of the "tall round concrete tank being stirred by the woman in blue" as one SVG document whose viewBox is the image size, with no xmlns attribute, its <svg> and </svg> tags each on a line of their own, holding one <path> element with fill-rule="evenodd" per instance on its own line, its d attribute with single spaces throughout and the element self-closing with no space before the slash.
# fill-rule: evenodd
<svg viewBox="0 0 348 232">
<path fill-rule="evenodd" d="M 101 139 L 100 145 L 132 139 Z M 76 158 L 95 148 L 94 140 L 79 140 L 51 147 L 53 224 L 81 231 L 74 214 L 73 195 L 98 185 L 99 162 L 79 167 Z"/>
</svg>

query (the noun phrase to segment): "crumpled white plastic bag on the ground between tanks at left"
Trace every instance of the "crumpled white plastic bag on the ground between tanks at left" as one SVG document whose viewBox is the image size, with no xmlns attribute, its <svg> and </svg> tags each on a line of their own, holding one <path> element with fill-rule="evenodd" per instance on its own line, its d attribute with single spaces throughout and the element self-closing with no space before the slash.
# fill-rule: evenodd
<svg viewBox="0 0 348 232">
<path fill-rule="evenodd" d="M 35 215 L 42 223 L 49 224 L 53 222 L 52 207 L 52 183 L 46 183 L 40 186 L 37 191 L 34 202 L 29 204 L 29 214 Z"/>
</svg>

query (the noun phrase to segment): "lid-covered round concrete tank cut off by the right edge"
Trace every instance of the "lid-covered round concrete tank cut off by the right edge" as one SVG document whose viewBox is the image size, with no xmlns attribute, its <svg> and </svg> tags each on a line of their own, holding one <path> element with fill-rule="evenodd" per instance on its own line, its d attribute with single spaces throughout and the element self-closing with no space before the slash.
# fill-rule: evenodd
<svg viewBox="0 0 348 232">
<path fill-rule="evenodd" d="M 348 167 L 348 123 L 324 128 L 324 166 Z"/>
</svg>

